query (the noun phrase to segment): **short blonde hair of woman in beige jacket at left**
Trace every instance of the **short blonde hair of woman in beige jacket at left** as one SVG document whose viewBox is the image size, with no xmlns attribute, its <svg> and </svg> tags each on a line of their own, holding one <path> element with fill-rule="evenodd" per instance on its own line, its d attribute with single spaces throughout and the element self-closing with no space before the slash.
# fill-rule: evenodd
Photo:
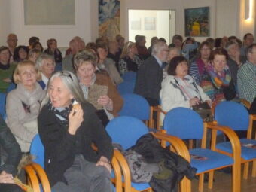
<svg viewBox="0 0 256 192">
<path fill-rule="evenodd" d="M 35 66 L 35 63 L 29 60 L 24 60 L 21 61 L 17 64 L 17 67 L 14 70 L 14 83 L 15 84 L 20 84 L 20 80 L 18 75 L 20 75 L 20 71 L 23 69 L 24 66 L 33 66 L 35 67 L 35 72 L 36 72 L 36 80 L 40 81 L 41 80 L 41 73 L 39 72 L 38 68 Z"/>
</svg>

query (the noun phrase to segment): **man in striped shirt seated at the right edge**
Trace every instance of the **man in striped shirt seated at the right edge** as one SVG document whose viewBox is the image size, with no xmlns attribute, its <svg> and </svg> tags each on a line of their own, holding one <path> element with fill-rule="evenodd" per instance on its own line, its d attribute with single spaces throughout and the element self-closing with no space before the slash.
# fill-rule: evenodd
<svg viewBox="0 0 256 192">
<path fill-rule="evenodd" d="M 248 60 L 238 70 L 237 85 L 239 98 L 253 102 L 256 96 L 256 44 L 251 44 L 247 50 Z"/>
</svg>

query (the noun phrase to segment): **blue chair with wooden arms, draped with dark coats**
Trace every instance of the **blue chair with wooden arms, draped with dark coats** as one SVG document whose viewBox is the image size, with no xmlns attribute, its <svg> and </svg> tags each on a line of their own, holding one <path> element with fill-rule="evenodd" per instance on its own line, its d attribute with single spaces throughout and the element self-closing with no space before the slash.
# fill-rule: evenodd
<svg viewBox="0 0 256 192">
<path fill-rule="evenodd" d="M 142 123 L 141 120 L 138 120 L 135 117 L 128 116 L 114 118 L 108 123 L 106 130 L 109 136 L 111 136 L 112 142 L 122 145 L 125 150 L 135 145 L 137 139 L 148 133 L 148 127 L 145 126 L 145 123 Z M 178 154 L 185 159 L 189 158 L 189 156 L 185 156 L 186 154 L 184 154 L 186 147 L 180 139 L 173 136 L 166 136 L 166 134 L 163 133 L 152 134 L 162 142 L 172 142 L 174 144 L 173 147 Z M 148 183 L 134 183 L 131 181 L 128 163 L 126 162 L 125 157 L 123 157 L 123 154 L 117 149 L 114 149 L 114 157 L 117 157 L 122 169 L 124 191 L 152 191 Z M 182 192 L 190 192 L 190 181 L 187 178 L 184 178 L 181 181 L 180 187 Z"/>
</svg>

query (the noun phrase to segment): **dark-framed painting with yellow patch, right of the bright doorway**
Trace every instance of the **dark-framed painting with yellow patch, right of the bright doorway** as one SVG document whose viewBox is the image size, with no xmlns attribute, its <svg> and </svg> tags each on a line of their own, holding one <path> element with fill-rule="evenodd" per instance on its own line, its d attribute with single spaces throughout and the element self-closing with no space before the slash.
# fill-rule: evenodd
<svg viewBox="0 0 256 192">
<path fill-rule="evenodd" d="M 185 36 L 208 37 L 209 7 L 185 9 Z"/>
</svg>

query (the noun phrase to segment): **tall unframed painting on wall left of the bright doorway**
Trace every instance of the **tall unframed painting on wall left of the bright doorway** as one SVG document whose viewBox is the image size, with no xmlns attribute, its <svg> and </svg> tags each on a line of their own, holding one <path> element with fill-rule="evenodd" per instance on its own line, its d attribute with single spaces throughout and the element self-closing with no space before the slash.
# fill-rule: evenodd
<svg viewBox="0 0 256 192">
<path fill-rule="evenodd" d="M 120 0 L 99 0 L 99 37 L 120 34 Z"/>
</svg>

